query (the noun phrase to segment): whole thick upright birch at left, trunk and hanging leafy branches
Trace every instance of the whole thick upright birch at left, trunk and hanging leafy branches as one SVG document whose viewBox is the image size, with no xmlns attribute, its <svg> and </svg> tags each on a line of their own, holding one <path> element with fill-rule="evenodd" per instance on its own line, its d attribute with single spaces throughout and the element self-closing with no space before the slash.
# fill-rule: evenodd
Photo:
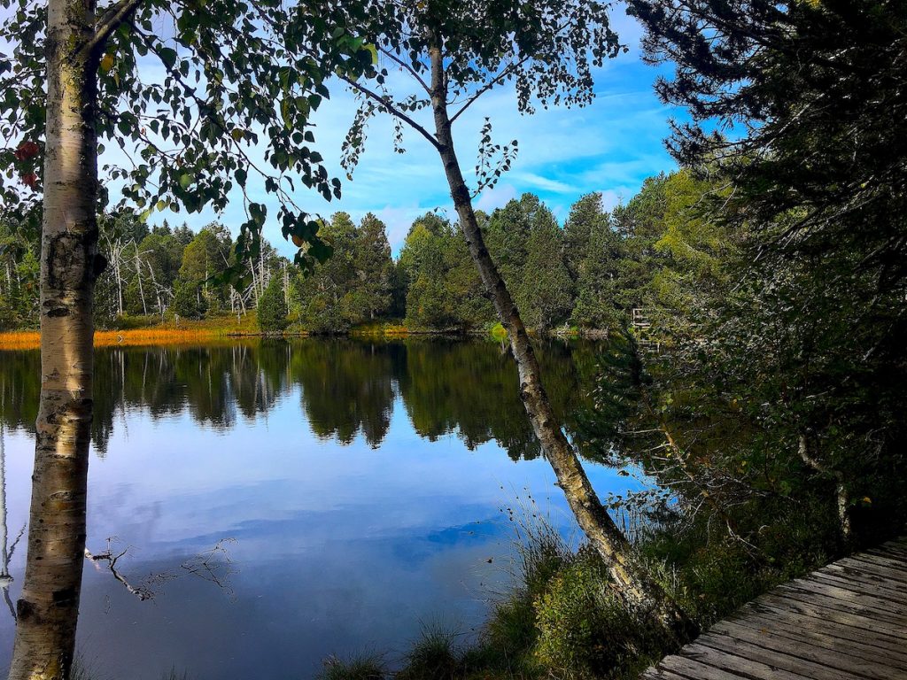
<svg viewBox="0 0 907 680">
<path fill-rule="evenodd" d="M 0 54 L 0 204 L 18 214 L 39 209 L 43 219 L 42 382 L 11 680 L 66 678 L 73 662 L 93 413 L 93 287 L 106 264 L 96 216 L 108 187 L 122 187 L 118 202 L 146 215 L 219 211 L 238 194 L 248 219 L 237 249 L 257 257 L 268 218 L 247 190 L 257 176 L 277 199 L 284 236 L 306 246 L 297 262 L 310 267 L 330 254 L 290 192 L 295 177 L 327 199 L 339 196 L 339 181 L 309 146 L 308 116 L 328 94 L 326 73 L 356 77 L 371 55 L 329 5 L 295 13 L 292 23 L 288 5 L 0 0 L 0 43 L 12 46 Z M 147 79 L 140 59 L 162 67 L 160 81 Z M 130 162 L 99 169 L 105 143 Z"/>
</svg>

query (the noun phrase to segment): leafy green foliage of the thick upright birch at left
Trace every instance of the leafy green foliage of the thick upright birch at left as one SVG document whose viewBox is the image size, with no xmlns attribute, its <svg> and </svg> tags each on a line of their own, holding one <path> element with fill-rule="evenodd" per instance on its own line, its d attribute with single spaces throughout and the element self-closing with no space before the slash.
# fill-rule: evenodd
<svg viewBox="0 0 907 680">
<path fill-rule="evenodd" d="M 313 257 L 327 257 L 317 220 L 296 198 L 297 182 L 325 199 L 340 195 L 314 148 L 310 115 L 327 98 L 332 73 L 358 78 L 372 62 L 347 30 L 360 10 L 332 5 L 99 2 L 94 31 L 74 54 L 97 73 L 98 109 L 89 115 L 101 150 L 123 152 L 102 156 L 102 204 L 146 217 L 219 212 L 238 189 L 247 217 L 238 252 L 255 255 L 268 219 L 260 184 L 278 199 L 285 238 L 304 244 L 297 262 L 310 267 Z M 47 3 L 0 0 L 0 7 L 0 44 L 12 47 L 0 53 L 0 197 L 5 209 L 26 213 L 42 193 Z"/>
</svg>

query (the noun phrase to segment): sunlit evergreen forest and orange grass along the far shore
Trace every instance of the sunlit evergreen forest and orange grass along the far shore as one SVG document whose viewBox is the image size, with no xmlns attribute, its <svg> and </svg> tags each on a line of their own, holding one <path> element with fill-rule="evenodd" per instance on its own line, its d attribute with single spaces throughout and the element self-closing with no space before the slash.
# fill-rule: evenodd
<svg viewBox="0 0 907 680">
<path fill-rule="evenodd" d="M 646 180 L 637 196 L 607 210 L 581 197 L 561 225 L 533 194 L 479 219 L 488 248 L 536 332 L 561 335 L 623 329 L 634 308 L 664 308 L 666 287 L 702 276 L 689 248 L 718 257 L 714 228 L 676 224 L 707 192 L 687 170 Z M 672 225 L 675 225 L 672 227 Z M 712 231 L 708 231 L 712 229 Z M 396 258 L 385 224 L 338 212 L 318 235 L 333 256 L 311 273 L 263 241 L 237 267 L 229 229 L 198 232 L 145 224 L 131 213 L 105 215 L 108 267 L 95 289 L 96 344 L 179 342 L 258 333 L 363 335 L 502 334 L 458 226 L 440 213 L 414 220 Z M 682 242 L 678 242 L 682 239 Z M 0 345 L 37 346 L 39 234 L 26 221 L 0 221 Z M 703 249 L 705 248 L 705 250 Z"/>
</svg>

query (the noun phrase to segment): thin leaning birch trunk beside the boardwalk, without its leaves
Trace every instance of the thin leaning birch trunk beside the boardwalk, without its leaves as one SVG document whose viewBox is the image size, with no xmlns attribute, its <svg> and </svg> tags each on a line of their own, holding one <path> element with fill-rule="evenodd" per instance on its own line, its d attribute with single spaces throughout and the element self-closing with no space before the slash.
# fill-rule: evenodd
<svg viewBox="0 0 907 680">
<path fill-rule="evenodd" d="M 485 290 L 491 296 L 495 312 L 507 330 L 513 358 L 520 374 L 520 396 L 526 413 L 529 414 L 532 429 L 554 469 L 558 484 L 567 497 L 580 529 L 585 532 L 607 565 L 619 597 L 646 616 L 654 616 L 672 640 L 683 642 L 693 634 L 695 626 L 634 559 L 629 540 L 611 519 L 592 489 L 576 452 L 573 451 L 571 443 L 561 430 L 561 423 L 551 409 L 551 402 L 541 383 L 539 363 L 532 350 L 526 327 L 522 323 L 520 311 L 513 302 L 488 248 L 485 247 L 482 230 L 473 211 L 472 198 L 453 149 L 441 50 L 435 47 L 430 50 L 430 54 L 435 134 L 439 142 L 439 153 L 444 162 L 444 172 L 450 185 L 451 198 L 460 218 L 460 226 L 470 255 L 479 269 Z"/>
</svg>

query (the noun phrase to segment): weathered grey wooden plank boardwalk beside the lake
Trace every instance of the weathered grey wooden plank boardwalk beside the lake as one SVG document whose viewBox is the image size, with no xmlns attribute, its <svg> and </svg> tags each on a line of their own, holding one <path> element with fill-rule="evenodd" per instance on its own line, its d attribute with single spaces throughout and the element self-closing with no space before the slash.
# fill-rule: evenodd
<svg viewBox="0 0 907 680">
<path fill-rule="evenodd" d="M 907 680 L 907 539 L 775 588 L 643 680 Z"/>
</svg>

